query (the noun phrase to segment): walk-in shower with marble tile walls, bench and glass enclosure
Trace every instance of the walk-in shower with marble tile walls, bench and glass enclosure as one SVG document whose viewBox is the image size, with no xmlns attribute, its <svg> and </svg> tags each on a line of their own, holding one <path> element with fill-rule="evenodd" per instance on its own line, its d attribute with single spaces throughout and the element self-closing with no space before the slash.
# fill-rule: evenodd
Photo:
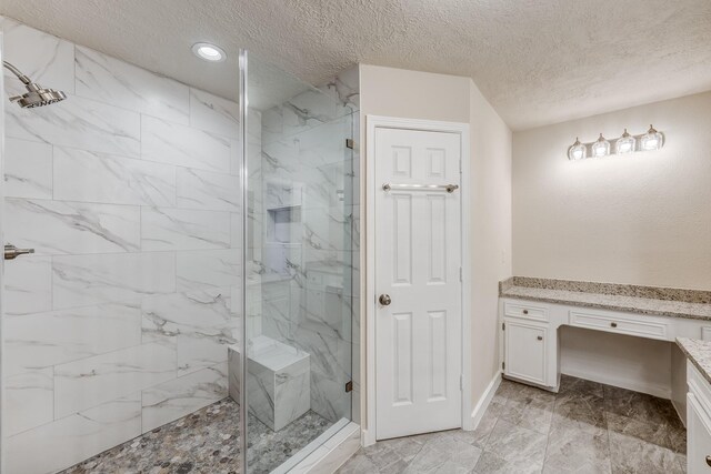
<svg viewBox="0 0 711 474">
<path fill-rule="evenodd" d="M 358 416 L 357 71 L 0 31 L 2 472 L 313 462 Z"/>
</svg>

